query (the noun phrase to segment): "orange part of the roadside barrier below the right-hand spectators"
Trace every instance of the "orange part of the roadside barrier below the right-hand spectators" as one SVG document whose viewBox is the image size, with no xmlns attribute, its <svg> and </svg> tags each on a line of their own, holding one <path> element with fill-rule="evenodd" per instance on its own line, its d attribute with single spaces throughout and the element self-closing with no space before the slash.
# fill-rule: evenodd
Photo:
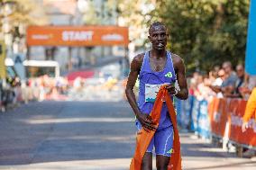
<svg viewBox="0 0 256 170">
<path fill-rule="evenodd" d="M 256 147 L 256 122 L 249 121 L 249 129 L 242 133 L 242 116 L 246 101 L 241 99 L 217 99 L 208 104 L 212 134 L 251 147 Z"/>
</svg>

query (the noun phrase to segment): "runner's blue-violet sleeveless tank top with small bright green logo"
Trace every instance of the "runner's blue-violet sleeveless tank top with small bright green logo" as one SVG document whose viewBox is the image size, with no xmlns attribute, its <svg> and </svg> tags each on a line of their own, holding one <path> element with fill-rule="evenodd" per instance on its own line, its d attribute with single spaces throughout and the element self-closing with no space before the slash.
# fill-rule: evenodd
<svg viewBox="0 0 256 170">
<path fill-rule="evenodd" d="M 139 75 L 140 85 L 139 85 L 139 97 L 138 97 L 138 107 L 140 108 L 142 113 L 150 114 L 153 108 L 154 103 L 148 102 L 145 98 L 145 88 L 146 85 L 162 85 L 166 83 L 174 84 L 176 81 L 176 75 L 174 71 L 174 67 L 172 64 L 171 54 L 169 51 L 166 52 L 167 61 L 166 65 L 162 71 L 156 72 L 151 69 L 150 64 L 150 52 L 146 52 L 143 58 L 143 63 Z M 138 129 L 142 128 L 141 123 L 136 120 L 136 125 Z M 163 103 L 163 107 L 160 115 L 160 124 L 159 128 L 167 128 L 171 126 L 172 123 L 169 118 L 169 112 L 166 103 Z"/>
</svg>

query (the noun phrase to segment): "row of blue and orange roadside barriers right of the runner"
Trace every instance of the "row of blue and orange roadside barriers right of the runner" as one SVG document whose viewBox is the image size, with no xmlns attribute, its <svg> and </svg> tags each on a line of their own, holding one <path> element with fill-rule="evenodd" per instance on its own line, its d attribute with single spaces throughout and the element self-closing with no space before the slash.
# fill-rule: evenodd
<svg viewBox="0 0 256 170">
<path fill-rule="evenodd" d="M 191 97 L 185 101 L 177 101 L 178 117 L 182 118 L 187 112 L 180 109 L 190 103 L 191 129 L 200 137 L 209 139 L 211 136 L 228 140 L 233 143 L 256 149 L 256 121 L 249 121 L 249 129 L 242 133 L 242 116 L 246 101 L 242 99 L 214 98 L 211 103 L 198 101 Z M 193 104 L 191 104 L 193 103 Z M 188 110 L 186 110 L 188 111 Z M 179 121 L 178 121 L 179 122 Z M 179 125 L 183 127 L 184 122 Z"/>
</svg>

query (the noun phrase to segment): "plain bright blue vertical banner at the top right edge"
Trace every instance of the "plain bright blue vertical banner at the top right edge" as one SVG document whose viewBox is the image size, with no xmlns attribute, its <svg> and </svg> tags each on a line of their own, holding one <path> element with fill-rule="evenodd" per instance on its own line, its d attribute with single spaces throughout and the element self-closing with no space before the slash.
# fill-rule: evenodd
<svg viewBox="0 0 256 170">
<path fill-rule="evenodd" d="M 251 0 L 247 44 L 246 44 L 246 57 L 245 57 L 245 70 L 249 75 L 256 75 L 256 0 Z"/>
</svg>

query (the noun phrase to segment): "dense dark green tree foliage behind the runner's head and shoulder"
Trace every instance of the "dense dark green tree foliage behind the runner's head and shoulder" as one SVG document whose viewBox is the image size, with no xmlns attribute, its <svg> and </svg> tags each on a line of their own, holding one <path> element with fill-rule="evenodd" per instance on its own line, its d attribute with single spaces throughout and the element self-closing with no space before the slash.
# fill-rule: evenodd
<svg viewBox="0 0 256 170">
<path fill-rule="evenodd" d="M 187 69 L 209 70 L 231 60 L 244 61 L 249 0 L 163 0 L 151 21 L 169 29 L 169 48 L 185 59 Z"/>
</svg>

